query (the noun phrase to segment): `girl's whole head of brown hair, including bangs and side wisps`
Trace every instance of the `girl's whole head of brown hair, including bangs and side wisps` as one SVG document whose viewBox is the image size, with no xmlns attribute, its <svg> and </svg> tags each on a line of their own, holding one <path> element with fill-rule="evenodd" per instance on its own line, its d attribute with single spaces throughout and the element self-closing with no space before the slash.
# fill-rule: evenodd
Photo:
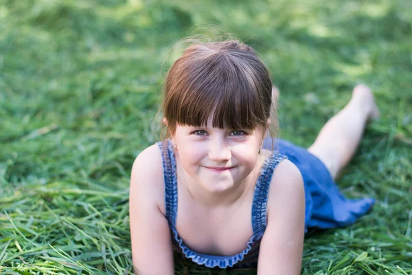
<svg viewBox="0 0 412 275">
<path fill-rule="evenodd" d="M 212 112 L 220 129 L 265 129 L 268 118 L 277 127 L 268 69 L 237 40 L 187 47 L 165 75 L 163 93 L 163 140 L 177 124 L 205 126 Z"/>
</svg>

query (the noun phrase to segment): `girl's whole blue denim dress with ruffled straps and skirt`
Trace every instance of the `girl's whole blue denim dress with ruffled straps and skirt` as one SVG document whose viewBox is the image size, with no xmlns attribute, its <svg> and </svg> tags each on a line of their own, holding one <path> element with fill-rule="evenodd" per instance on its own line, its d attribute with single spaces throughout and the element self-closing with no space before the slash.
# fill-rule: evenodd
<svg viewBox="0 0 412 275">
<path fill-rule="evenodd" d="M 170 140 L 158 142 L 163 161 L 163 179 L 165 184 L 165 217 L 168 219 L 173 248 L 187 259 L 198 265 L 220 268 L 256 267 L 260 241 L 266 229 L 266 203 L 273 171 L 283 159 L 287 158 L 299 168 L 304 179 L 305 188 L 305 231 L 307 228 L 337 228 L 354 223 L 356 219 L 366 214 L 374 203 L 374 199 L 346 199 L 337 188 L 325 167 L 317 157 L 306 148 L 296 146 L 285 140 L 277 139 L 275 150 L 265 160 L 260 177 L 256 182 L 253 202 L 252 219 L 253 236 L 247 243 L 247 248 L 231 256 L 202 254 L 192 250 L 183 243 L 176 230 L 177 217 L 177 176 L 176 160 Z M 264 141 L 264 148 L 271 148 L 271 139 Z"/>
</svg>

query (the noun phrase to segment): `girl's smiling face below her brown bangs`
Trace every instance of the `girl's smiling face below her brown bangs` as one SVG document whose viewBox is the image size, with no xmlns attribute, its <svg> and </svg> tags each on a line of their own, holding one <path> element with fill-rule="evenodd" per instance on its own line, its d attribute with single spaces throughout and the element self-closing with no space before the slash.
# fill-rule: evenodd
<svg viewBox="0 0 412 275">
<path fill-rule="evenodd" d="M 264 131 L 176 126 L 173 142 L 191 181 L 209 192 L 223 192 L 247 179 L 255 168 Z"/>
</svg>

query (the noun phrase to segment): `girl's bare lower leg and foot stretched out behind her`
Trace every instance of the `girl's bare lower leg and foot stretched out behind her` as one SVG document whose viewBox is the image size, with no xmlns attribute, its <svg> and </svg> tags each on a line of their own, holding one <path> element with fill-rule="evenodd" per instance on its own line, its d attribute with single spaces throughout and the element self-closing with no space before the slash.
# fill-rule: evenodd
<svg viewBox="0 0 412 275">
<path fill-rule="evenodd" d="M 354 155 L 367 122 L 378 117 L 371 89 L 357 85 L 350 102 L 326 122 L 308 151 L 321 159 L 335 179 Z"/>
</svg>

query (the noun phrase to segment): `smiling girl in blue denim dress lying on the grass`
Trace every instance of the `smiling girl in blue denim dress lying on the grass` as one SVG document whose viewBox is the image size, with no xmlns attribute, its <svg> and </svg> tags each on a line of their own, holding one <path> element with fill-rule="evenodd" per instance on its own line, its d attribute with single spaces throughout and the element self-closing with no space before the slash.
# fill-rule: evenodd
<svg viewBox="0 0 412 275">
<path fill-rule="evenodd" d="M 273 96 L 275 94 L 275 96 Z M 137 274 L 174 274 L 173 248 L 206 267 L 299 274 L 306 228 L 350 225 L 373 199 L 345 199 L 334 179 L 377 118 L 358 85 L 308 149 L 275 139 L 268 69 L 238 41 L 187 47 L 165 77 L 168 136 L 130 179 Z"/>
</svg>

